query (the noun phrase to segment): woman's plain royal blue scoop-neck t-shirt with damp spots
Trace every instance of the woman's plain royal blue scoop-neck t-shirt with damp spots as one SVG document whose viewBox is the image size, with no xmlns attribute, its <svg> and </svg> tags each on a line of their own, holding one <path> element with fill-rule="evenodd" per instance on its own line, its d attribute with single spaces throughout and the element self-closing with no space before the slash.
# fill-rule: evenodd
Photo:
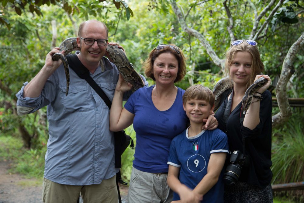
<svg viewBox="0 0 304 203">
<path fill-rule="evenodd" d="M 185 90 L 178 87 L 173 105 L 158 110 L 152 102 L 152 89 L 140 88 L 127 100 L 124 107 L 135 114 L 133 128 L 136 148 L 133 167 L 148 173 L 168 172 L 168 156 L 172 139 L 187 128 L 188 117 L 183 109 Z"/>
</svg>

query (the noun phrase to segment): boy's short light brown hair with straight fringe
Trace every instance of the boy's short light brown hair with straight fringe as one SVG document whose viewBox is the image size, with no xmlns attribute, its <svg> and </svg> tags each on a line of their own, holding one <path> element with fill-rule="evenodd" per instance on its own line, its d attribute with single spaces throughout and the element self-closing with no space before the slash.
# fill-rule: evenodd
<svg viewBox="0 0 304 203">
<path fill-rule="evenodd" d="M 186 89 L 183 95 L 184 105 L 187 103 L 187 101 L 194 99 L 207 101 L 211 107 L 214 105 L 213 92 L 208 87 L 202 85 L 192 85 Z"/>
</svg>

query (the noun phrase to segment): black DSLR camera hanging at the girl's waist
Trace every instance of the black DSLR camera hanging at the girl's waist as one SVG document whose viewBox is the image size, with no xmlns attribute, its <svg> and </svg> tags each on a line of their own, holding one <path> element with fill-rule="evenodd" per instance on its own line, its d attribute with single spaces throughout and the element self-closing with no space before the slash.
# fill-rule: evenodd
<svg viewBox="0 0 304 203">
<path fill-rule="evenodd" d="M 237 182 L 240 177 L 242 167 L 247 165 L 248 158 L 240 151 L 233 151 L 230 154 L 229 165 L 226 167 L 223 180 L 227 185 L 232 185 Z"/>
</svg>

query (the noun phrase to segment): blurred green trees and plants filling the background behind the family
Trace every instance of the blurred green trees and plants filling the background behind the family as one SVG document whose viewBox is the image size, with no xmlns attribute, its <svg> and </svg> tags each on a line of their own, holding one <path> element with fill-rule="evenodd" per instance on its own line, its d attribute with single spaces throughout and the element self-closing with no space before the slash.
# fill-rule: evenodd
<svg viewBox="0 0 304 203">
<path fill-rule="evenodd" d="M 292 44 L 304 30 L 304 3 L 299 0 L 272 0 L 271 9 L 279 8 L 271 16 L 266 12 L 261 24 L 268 21 L 263 33 L 255 39 L 265 65 L 265 73 L 272 78 L 269 89 L 276 97 L 276 83 L 282 64 Z M 237 39 L 247 39 L 254 25 L 255 12 L 272 1 L 178 1 L 184 19 L 192 29 L 204 34 L 220 59 L 230 47 L 231 23 L 224 4 L 233 15 L 233 32 Z M 13 160 L 12 172 L 28 177 L 43 177 L 44 155 L 48 140 L 46 108 L 25 116 L 16 115 L 16 96 L 22 84 L 30 81 L 44 65 L 51 50 L 54 26 L 56 45 L 68 37 L 75 37 L 78 25 L 87 19 L 103 21 L 109 28 L 109 41 L 118 42 L 126 50 L 134 68 L 141 74 L 143 61 L 158 44 L 176 44 L 187 57 L 187 74 L 177 86 L 186 89 L 200 83 L 213 88 L 223 77 L 221 67 L 215 65 L 207 49 L 196 37 L 186 33 L 166 0 L 0 0 L 0 161 Z M 260 25 L 261 26 L 261 25 Z M 303 98 L 304 49 L 295 54 L 292 76 L 285 91 L 286 97 Z M 149 80 L 152 85 L 153 81 Z M 292 116 L 273 128 L 272 183 L 304 181 L 303 107 L 292 107 Z M 273 108 L 273 115 L 279 112 Z M 126 129 L 136 141 L 132 126 Z M 136 142 L 135 142 L 136 145 Z M 123 154 L 122 174 L 130 180 L 134 150 Z M 301 202 L 303 191 L 276 192 L 280 202 Z"/>
</svg>

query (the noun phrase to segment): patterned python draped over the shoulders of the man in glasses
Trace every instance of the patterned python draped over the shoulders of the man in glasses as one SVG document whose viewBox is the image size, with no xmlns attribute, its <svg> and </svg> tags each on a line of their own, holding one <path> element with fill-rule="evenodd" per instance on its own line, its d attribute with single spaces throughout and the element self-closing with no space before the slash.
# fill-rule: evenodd
<svg viewBox="0 0 304 203">
<path fill-rule="evenodd" d="M 71 51 L 80 50 L 77 45 L 76 39 L 76 37 L 70 37 L 64 40 L 59 45 L 60 51 L 64 51 L 64 54 L 56 53 L 52 56 L 52 59 L 54 61 L 61 60 L 64 65 L 65 76 L 67 79 L 67 90 L 65 94 L 66 96 L 68 94 L 70 86 L 70 72 L 65 55 L 67 55 Z M 119 73 L 123 76 L 123 79 L 133 85 L 132 92 L 135 92 L 137 89 L 144 86 L 143 80 L 141 79 L 140 75 L 134 70 L 133 65 L 129 62 L 126 54 L 123 52 L 122 49 L 119 49 L 118 46 L 108 44 L 106 52 L 109 54 L 111 60 L 116 65 Z M 102 60 L 100 61 L 100 63 L 102 66 Z"/>
</svg>

